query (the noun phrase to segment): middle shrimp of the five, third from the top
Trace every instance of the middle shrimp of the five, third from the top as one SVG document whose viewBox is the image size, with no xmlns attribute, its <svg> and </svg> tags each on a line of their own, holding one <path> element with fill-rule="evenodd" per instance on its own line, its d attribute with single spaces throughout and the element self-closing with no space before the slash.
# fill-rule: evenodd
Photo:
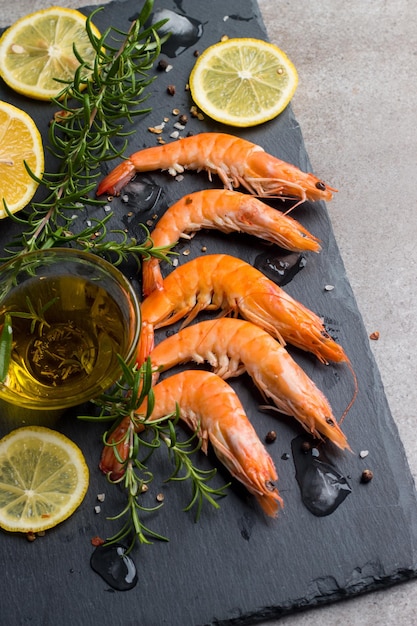
<svg viewBox="0 0 417 626">
<path fill-rule="evenodd" d="M 161 328 L 183 318 L 185 326 L 205 309 L 240 313 L 323 363 L 349 362 L 315 313 L 249 263 L 227 254 L 201 256 L 178 266 L 164 279 L 161 291 L 143 300 L 141 311 L 151 328 Z"/>
</svg>

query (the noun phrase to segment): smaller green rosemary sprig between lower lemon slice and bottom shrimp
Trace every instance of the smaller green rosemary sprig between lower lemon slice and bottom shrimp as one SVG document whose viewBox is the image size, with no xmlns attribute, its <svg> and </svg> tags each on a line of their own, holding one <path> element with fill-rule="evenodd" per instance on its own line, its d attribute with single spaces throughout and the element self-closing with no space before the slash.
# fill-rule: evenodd
<svg viewBox="0 0 417 626">
<path fill-rule="evenodd" d="M 127 494 L 127 502 L 119 514 L 109 519 L 127 519 L 121 529 L 107 542 L 116 543 L 129 537 L 128 552 L 130 552 L 136 541 L 151 543 L 148 537 L 168 541 L 166 537 L 149 529 L 142 521 L 142 514 L 155 511 L 162 506 L 160 503 L 149 508 L 141 503 L 141 496 L 154 479 L 148 465 L 153 452 L 161 447 L 165 448 L 168 457 L 174 463 L 174 469 L 166 482 L 191 482 L 192 497 L 184 511 L 190 511 L 196 506 L 196 521 L 199 519 L 204 501 L 219 508 L 216 498 L 226 495 L 228 485 L 211 487 L 208 483 L 216 475 L 216 469 L 206 471 L 194 465 L 192 455 L 201 447 L 200 441 L 197 444 L 195 442 L 196 433 L 186 441 L 178 440 L 176 426 L 181 416 L 179 407 L 174 414 L 158 420 L 152 419 L 154 397 L 150 361 L 148 360 L 140 369 L 129 368 L 123 361 L 120 361 L 120 365 L 123 371 L 122 378 L 112 392 L 103 394 L 95 401 L 101 408 L 100 414 L 96 417 L 80 416 L 79 419 L 115 420 L 111 429 L 103 436 L 103 443 L 113 452 L 112 458 L 115 460 L 115 469 L 112 472 L 115 476 L 112 477 L 112 473 L 109 473 L 107 478 L 109 482 L 123 487 Z M 137 410 L 144 398 L 147 398 L 147 410 L 141 415 Z M 123 426 L 118 430 L 122 422 Z M 142 453 L 144 458 L 139 459 Z"/>
</svg>

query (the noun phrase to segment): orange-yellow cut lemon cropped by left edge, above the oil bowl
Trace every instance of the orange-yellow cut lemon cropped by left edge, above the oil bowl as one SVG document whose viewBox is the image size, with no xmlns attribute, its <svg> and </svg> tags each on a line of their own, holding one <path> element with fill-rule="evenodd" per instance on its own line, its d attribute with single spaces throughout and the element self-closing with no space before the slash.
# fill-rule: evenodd
<svg viewBox="0 0 417 626">
<path fill-rule="evenodd" d="M 42 176 L 42 138 L 33 119 L 21 109 L 0 101 L 0 219 L 23 209 L 39 183 L 28 173 Z"/>
</svg>

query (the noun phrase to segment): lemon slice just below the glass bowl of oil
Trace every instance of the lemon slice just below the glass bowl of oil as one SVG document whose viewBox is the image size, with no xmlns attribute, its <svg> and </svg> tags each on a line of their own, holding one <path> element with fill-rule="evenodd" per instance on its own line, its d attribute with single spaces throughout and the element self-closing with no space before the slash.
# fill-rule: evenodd
<svg viewBox="0 0 417 626">
<path fill-rule="evenodd" d="M 88 487 L 81 450 L 64 435 L 28 426 L 0 441 L 0 527 L 40 532 L 67 519 Z"/>
</svg>

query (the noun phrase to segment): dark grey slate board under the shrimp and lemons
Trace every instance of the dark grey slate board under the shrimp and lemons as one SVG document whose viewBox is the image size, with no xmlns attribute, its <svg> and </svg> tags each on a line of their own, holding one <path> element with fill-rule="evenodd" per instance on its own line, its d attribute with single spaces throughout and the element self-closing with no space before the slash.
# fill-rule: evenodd
<svg viewBox="0 0 417 626">
<path fill-rule="evenodd" d="M 155 70 L 157 81 L 149 101 L 152 112 L 139 119 L 138 132 L 128 150 L 131 152 L 155 144 L 155 136 L 147 128 L 169 117 L 173 108 L 188 112 L 189 93 L 184 85 L 195 61 L 195 49 L 203 50 L 222 34 L 267 38 L 258 6 L 251 0 L 229 1 L 227 20 L 225 3 L 220 0 L 163 0 L 155 3 L 155 9 L 160 7 L 195 18 L 203 25 L 203 34 L 195 46 L 177 57 L 168 57 L 173 65 L 171 72 Z M 127 30 L 136 11 L 137 3 L 130 0 L 112 3 L 105 6 L 95 22 L 99 28 L 112 24 Z M 168 84 L 177 86 L 174 97 L 166 93 Z M 50 105 L 21 98 L 3 84 L 0 84 L 0 98 L 32 114 L 46 135 Z M 193 119 L 187 125 L 187 131 L 193 133 L 204 130 L 236 132 L 207 120 Z M 312 169 L 291 107 L 273 122 L 239 134 L 301 169 Z M 319 169 L 320 164 L 315 166 Z M 138 180 L 159 185 L 162 191 L 153 208 L 138 210 L 129 203 L 115 201 L 113 208 L 117 215 L 112 225 L 127 227 L 132 236 L 140 234 L 139 224 L 152 218 L 155 210 L 163 212 L 190 191 L 219 186 L 218 181 L 210 184 L 204 174 L 193 173 L 187 173 L 182 182 L 164 174 L 138 177 Z M 271 204 L 282 208 L 279 202 Z M 91 470 L 90 488 L 78 511 L 46 537 L 28 543 L 21 536 L 2 534 L 2 623 L 251 624 L 415 576 L 417 509 L 413 481 L 345 275 L 327 208 L 323 203 L 306 203 L 293 216 L 320 237 L 323 250 L 320 255 L 307 256 L 306 267 L 285 289 L 324 317 L 333 335 L 345 347 L 359 380 L 358 399 L 343 424 L 354 452 L 332 453 L 332 462 L 348 477 L 352 493 L 329 516 L 310 513 L 301 501 L 291 457 L 291 442 L 302 433 L 301 428 L 290 418 L 259 411 L 260 397 L 250 382 L 245 378 L 234 381 L 259 436 L 263 438 L 271 429 L 278 433 L 277 441 L 268 450 L 277 466 L 285 509 L 277 520 L 267 519 L 254 499 L 233 481 L 228 497 L 221 501 L 221 509 L 205 507 L 196 524 L 192 515 L 182 512 L 190 495 L 186 486 L 164 484 L 170 468 L 162 458 L 156 458 L 156 466 L 152 468 L 156 480 L 148 502 L 153 503 L 155 494 L 163 491 L 165 504 L 162 511 L 146 521 L 154 530 L 167 535 L 170 542 L 135 549 L 133 558 L 139 582 L 131 591 L 114 592 L 90 568 L 93 550 L 90 540 L 96 535 L 109 536 L 116 530 L 107 516 L 118 512 L 124 500 L 117 488 L 107 485 L 97 467 L 103 427 L 80 423 L 76 412 L 69 411 L 57 428 L 83 450 Z M 7 229 L 2 231 L 2 245 L 9 241 L 13 230 L 7 222 L 3 225 Z M 187 244 L 190 256 L 184 257 L 184 246 L 179 246 L 179 261 L 197 256 L 203 245 L 209 252 L 226 251 L 252 263 L 265 249 L 264 244 L 250 237 L 201 232 Z M 133 267 L 126 266 L 124 270 L 139 289 Z M 326 284 L 334 285 L 334 290 L 325 291 Z M 295 351 L 293 356 L 326 393 L 335 415 L 340 416 L 353 389 L 346 368 L 325 367 Z M 5 430 L 0 423 L 0 434 Z M 369 450 L 366 460 L 359 457 L 361 450 Z M 213 455 L 208 459 L 201 456 L 199 463 L 206 468 L 218 466 L 215 484 L 229 480 Z M 360 483 L 365 467 L 374 472 L 374 480 L 367 485 Z M 102 492 L 106 493 L 106 499 L 97 515 L 94 507 L 97 494 Z"/>
</svg>

